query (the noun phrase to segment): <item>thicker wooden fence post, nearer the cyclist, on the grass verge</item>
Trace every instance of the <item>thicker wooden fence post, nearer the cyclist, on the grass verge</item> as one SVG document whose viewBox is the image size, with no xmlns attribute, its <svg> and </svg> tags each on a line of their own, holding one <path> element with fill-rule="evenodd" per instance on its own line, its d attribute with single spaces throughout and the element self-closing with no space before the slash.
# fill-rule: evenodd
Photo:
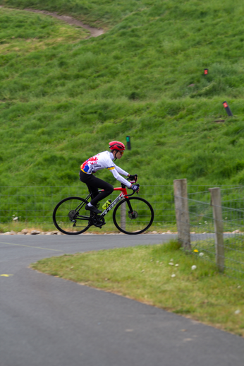
<svg viewBox="0 0 244 366">
<path fill-rule="evenodd" d="M 190 220 L 188 211 L 187 179 L 173 181 L 173 194 L 176 208 L 178 241 L 181 247 L 190 250 Z"/>
</svg>

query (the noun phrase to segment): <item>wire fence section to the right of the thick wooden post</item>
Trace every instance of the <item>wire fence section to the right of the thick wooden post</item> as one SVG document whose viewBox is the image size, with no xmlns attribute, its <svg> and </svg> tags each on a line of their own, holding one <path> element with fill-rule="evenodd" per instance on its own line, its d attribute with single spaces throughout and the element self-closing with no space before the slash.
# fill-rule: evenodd
<svg viewBox="0 0 244 366">
<path fill-rule="evenodd" d="M 188 194 L 191 247 L 203 260 L 222 257 L 226 276 L 244 280 L 244 187 L 220 191 L 221 218 L 214 217 L 210 191 Z"/>
</svg>

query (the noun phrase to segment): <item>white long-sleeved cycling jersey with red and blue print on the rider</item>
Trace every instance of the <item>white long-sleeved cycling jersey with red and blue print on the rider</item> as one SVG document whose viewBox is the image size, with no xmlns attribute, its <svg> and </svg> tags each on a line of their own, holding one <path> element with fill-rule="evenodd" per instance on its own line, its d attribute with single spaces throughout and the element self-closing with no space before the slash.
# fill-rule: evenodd
<svg viewBox="0 0 244 366">
<path fill-rule="evenodd" d="M 97 155 L 92 156 L 92 158 L 86 160 L 83 165 L 81 165 L 80 169 L 86 174 L 94 174 L 97 170 L 108 169 L 110 170 L 114 178 L 119 182 L 125 184 L 126 187 L 130 187 L 130 183 L 125 178 L 121 177 L 122 175 L 128 176 L 128 172 L 117 167 L 114 164 L 114 155 L 109 151 L 103 151 Z"/>
</svg>

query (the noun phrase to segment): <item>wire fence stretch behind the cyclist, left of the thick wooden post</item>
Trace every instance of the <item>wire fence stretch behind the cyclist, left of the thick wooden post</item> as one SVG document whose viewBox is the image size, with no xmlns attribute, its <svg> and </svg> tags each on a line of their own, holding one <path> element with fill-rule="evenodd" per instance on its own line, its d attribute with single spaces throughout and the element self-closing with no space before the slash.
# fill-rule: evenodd
<svg viewBox="0 0 244 366">
<path fill-rule="evenodd" d="M 85 198 L 87 188 L 80 186 L 30 186 L 0 187 L 0 230 L 16 232 L 25 227 L 56 230 L 52 221 L 54 207 L 59 201 L 69 196 Z M 116 199 L 114 191 L 109 199 Z M 162 232 L 176 231 L 176 218 L 173 205 L 172 186 L 142 186 L 140 197 L 149 201 L 154 208 L 154 223 L 150 230 Z M 101 202 L 101 205 L 106 201 Z M 114 228 L 112 215 L 106 216 L 106 225 L 102 231 Z"/>
</svg>

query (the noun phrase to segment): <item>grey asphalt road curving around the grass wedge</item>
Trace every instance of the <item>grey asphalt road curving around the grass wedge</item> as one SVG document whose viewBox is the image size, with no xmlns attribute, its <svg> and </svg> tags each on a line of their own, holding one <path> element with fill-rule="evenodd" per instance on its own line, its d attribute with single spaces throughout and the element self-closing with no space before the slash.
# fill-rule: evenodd
<svg viewBox="0 0 244 366">
<path fill-rule="evenodd" d="M 11 276 L 0 276 L 0 366 L 243 366 L 243 338 L 28 268 L 169 237 L 1 235 L 0 274 Z"/>
</svg>

